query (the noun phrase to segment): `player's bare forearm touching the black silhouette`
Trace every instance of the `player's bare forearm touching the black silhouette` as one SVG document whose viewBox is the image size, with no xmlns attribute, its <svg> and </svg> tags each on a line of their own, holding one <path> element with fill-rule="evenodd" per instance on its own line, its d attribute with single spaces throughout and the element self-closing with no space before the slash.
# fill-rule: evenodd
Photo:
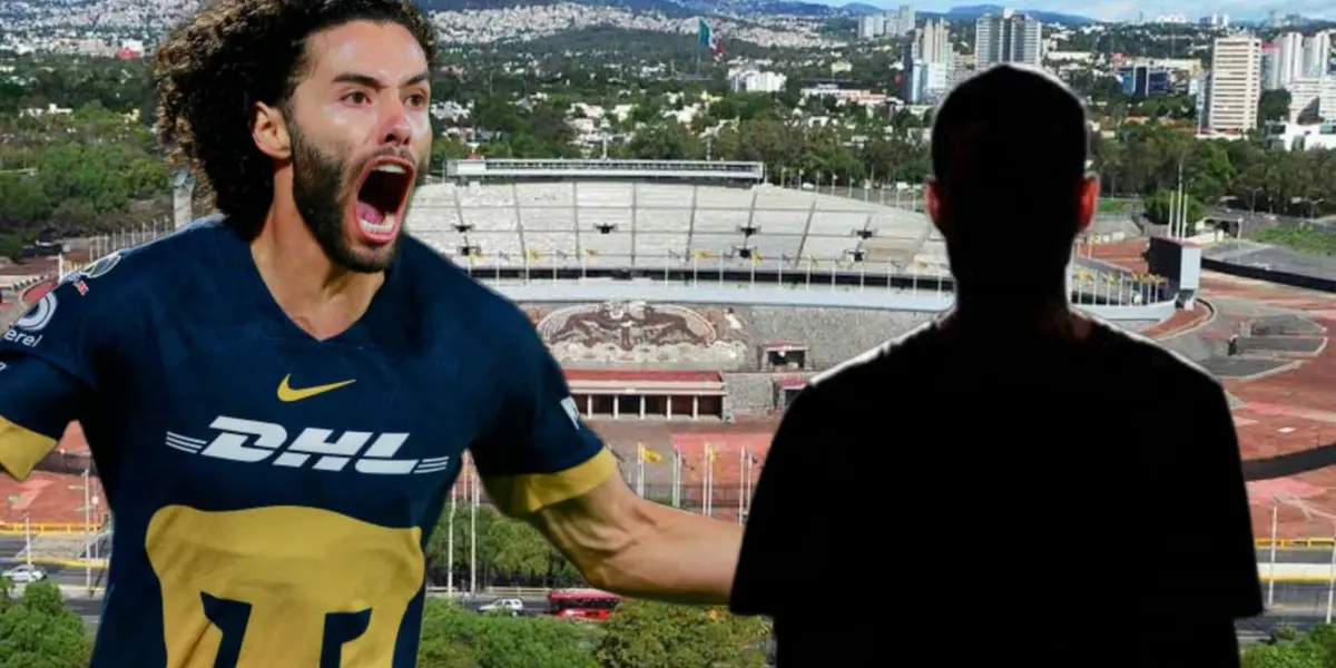
<svg viewBox="0 0 1336 668">
<path fill-rule="evenodd" d="M 635 540 L 585 573 L 596 587 L 636 599 L 723 605 L 741 549 L 735 524 L 637 500 Z"/>
</svg>

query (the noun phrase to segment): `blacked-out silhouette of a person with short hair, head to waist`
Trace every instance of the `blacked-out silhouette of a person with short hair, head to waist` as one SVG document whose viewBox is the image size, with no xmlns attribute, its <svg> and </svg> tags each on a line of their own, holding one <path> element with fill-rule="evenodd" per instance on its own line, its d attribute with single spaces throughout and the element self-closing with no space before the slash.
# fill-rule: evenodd
<svg viewBox="0 0 1336 668">
<path fill-rule="evenodd" d="M 1071 309 L 1088 142 L 1038 71 L 938 110 L 955 306 L 799 393 L 748 517 L 732 608 L 775 617 L 780 668 L 1237 665 L 1261 599 L 1229 406 Z"/>
</svg>

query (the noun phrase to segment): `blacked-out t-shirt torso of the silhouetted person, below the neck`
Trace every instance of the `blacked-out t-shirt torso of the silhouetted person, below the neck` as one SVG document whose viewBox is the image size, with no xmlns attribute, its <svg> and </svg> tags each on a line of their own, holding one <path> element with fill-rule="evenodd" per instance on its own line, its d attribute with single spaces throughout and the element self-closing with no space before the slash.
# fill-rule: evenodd
<svg viewBox="0 0 1336 668">
<path fill-rule="evenodd" d="M 926 325 L 790 406 L 732 609 L 775 617 L 780 668 L 1232 665 L 1261 593 L 1224 390 L 1098 321 Z"/>
</svg>

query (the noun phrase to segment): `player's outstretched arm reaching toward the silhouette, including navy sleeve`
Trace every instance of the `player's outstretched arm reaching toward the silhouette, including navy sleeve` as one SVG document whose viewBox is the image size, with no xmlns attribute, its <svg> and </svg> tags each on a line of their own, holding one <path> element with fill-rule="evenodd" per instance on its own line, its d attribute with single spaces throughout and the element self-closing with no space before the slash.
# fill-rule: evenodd
<svg viewBox="0 0 1336 668">
<path fill-rule="evenodd" d="M 536 526 L 591 585 L 672 603 L 728 601 L 741 529 L 637 497 L 581 421 L 528 321 L 497 382 L 501 409 L 472 448 L 501 512 Z"/>
</svg>

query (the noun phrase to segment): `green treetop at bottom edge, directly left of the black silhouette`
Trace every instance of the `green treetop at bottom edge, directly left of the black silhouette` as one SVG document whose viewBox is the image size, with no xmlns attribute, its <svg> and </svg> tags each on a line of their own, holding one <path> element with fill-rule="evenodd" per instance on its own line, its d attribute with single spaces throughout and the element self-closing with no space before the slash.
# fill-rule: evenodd
<svg viewBox="0 0 1336 668">
<path fill-rule="evenodd" d="M 603 668 L 760 668 L 770 635 L 759 619 L 648 601 L 623 601 L 603 631 Z"/>
</svg>

